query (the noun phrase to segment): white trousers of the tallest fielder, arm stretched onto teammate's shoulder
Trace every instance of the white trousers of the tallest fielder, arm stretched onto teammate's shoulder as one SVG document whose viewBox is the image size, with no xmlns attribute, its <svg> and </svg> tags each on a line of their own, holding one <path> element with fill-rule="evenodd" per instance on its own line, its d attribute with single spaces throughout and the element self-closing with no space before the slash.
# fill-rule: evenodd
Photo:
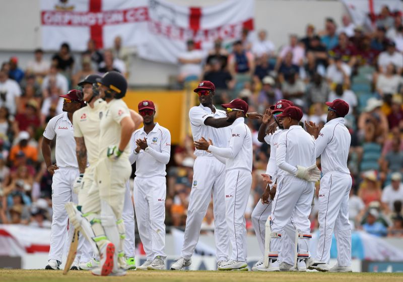
<svg viewBox="0 0 403 282">
<path fill-rule="evenodd" d="M 193 255 L 201 222 L 206 215 L 213 193 L 214 238 L 216 259 L 228 260 L 229 238 L 225 219 L 225 164 L 214 156 L 198 156 L 193 164 L 193 183 L 187 208 L 186 229 L 181 257 Z"/>
</svg>

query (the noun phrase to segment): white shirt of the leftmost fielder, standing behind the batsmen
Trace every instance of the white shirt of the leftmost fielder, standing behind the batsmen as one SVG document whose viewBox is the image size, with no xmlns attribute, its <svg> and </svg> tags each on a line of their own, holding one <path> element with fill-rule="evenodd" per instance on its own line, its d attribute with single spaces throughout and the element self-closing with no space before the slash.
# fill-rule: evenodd
<svg viewBox="0 0 403 282">
<path fill-rule="evenodd" d="M 67 112 L 52 118 L 45 128 L 43 136 L 49 140 L 53 140 L 56 136 L 56 164 L 58 167 L 78 168 L 74 129 Z"/>
</svg>

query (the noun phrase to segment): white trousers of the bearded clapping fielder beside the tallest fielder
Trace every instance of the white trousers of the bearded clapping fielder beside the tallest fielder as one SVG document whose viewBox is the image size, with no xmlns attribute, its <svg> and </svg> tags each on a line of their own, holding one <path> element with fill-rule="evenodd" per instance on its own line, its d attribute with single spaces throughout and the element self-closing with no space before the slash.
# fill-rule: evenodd
<svg viewBox="0 0 403 282">
<path fill-rule="evenodd" d="M 246 220 L 252 174 L 247 170 L 231 170 L 225 174 L 225 216 L 232 246 L 230 259 L 246 262 Z"/>
</svg>

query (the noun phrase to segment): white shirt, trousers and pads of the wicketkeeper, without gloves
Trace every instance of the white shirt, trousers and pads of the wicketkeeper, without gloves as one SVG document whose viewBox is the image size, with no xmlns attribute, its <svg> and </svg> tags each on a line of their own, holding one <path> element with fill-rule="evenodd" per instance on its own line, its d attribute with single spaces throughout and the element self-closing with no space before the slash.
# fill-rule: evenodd
<svg viewBox="0 0 403 282">
<path fill-rule="evenodd" d="M 272 233 L 281 233 L 291 220 L 295 229 L 310 235 L 308 217 L 311 212 L 314 183 L 297 178 L 295 175 L 297 165 L 308 167 L 315 164 L 315 141 L 312 136 L 300 126 L 291 126 L 288 131 L 280 135 L 276 163 L 281 171 L 279 171 L 277 193 L 272 204 Z M 309 251 L 307 238 L 309 236 L 298 239 L 300 253 Z M 271 252 L 281 250 L 282 239 L 272 238 Z"/>
</svg>

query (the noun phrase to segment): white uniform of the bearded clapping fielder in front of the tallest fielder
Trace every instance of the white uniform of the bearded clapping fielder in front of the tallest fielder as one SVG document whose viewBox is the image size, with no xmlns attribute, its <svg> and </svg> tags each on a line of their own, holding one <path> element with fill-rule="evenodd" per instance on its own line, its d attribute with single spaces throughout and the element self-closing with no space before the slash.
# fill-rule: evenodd
<svg viewBox="0 0 403 282">
<path fill-rule="evenodd" d="M 209 151 L 221 161 L 225 160 L 225 215 L 232 244 L 230 259 L 246 262 L 245 210 L 252 185 L 253 151 L 252 134 L 244 118 L 232 124 L 228 143 L 225 148 L 210 145 Z"/>
</svg>

